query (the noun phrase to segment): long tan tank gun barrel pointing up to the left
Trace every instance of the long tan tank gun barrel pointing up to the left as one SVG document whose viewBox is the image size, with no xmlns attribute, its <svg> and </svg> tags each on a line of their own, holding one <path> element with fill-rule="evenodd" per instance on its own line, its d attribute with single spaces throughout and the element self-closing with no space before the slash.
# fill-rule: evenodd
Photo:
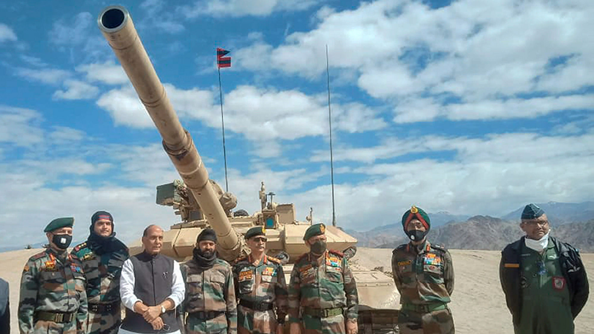
<svg viewBox="0 0 594 334">
<path fill-rule="evenodd" d="M 99 14 L 97 23 L 159 130 L 165 152 L 216 231 L 220 255 L 225 259 L 234 259 L 241 250 L 239 238 L 229 223 L 219 196 L 208 182 L 208 171 L 192 137 L 173 110 L 129 12 L 121 6 L 106 7 Z"/>
</svg>

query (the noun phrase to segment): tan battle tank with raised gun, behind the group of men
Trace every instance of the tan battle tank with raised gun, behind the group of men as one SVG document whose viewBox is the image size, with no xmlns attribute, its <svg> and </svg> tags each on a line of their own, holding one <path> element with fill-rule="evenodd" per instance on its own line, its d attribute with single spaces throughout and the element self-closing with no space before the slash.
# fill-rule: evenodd
<svg viewBox="0 0 594 334">
<path fill-rule="evenodd" d="M 200 231 L 210 227 L 217 234 L 219 257 L 232 263 L 249 252 L 244 240 L 247 230 L 264 225 L 268 238 L 267 254 L 282 260 L 289 282 L 292 263 L 308 252 L 303 235 L 312 224 L 311 209 L 305 221 L 296 220 L 293 203 L 275 203 L 274 193 L 266 193 L 262 182 L 258 189 L 260 211 L 253 214 L 245 210 L 233 211 L 237 199 L 209 179 L 194 141 L 179 122 L 127 9 L 106 7 L 97 21 L 181 177 L 181 180 L 157 186 L 157 204 L 172 206 L 175 214 L 181 217 L 180 222 L 165 231 L 162 252 L 179 261 L 188 259 Z M 326 237 L 328 249 L 342 251 L 349 258 L 355 255 L 357 240 L 341 228 L 327 225 Z M 130 250 L 131 253 L 140 252 L 140 241 L 130 245 Z M 370 270 L 361 265 L 353 265 L 352 270 L 359 294 L 359 333 L 397 332 L 399 296 L 393 279 L 381 270 Z"/>
</svg>

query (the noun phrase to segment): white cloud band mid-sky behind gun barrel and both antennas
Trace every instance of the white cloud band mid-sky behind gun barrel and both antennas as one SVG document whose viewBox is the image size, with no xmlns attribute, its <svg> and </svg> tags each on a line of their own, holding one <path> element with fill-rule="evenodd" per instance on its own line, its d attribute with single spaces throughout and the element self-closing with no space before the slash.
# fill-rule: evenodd
<svg viewBox="0 0 594 334">
<path fill-rule="evenodd" d="M 219 107 L 211 91 L 181 90 L 166 84 L 168 96 L 181 118 L 201 120 L 211 128 L 220 127 Z M 225 96 L 225 128 L 241 133 L 252 141 L 296 139 L 326 135 L 328 112 L 326 97 L 308 96 L 298 90 L 239 86 Z M 146 110 L 131 87 L 111 90 L 97 105 L 112 115 L 116 124 L 137 128 L 153 126 Z M 377 111 L 359 103 L 334 104 L 333 126 L 350 133 L 384 128 Z M 259 145 L 259 144 L 257 144 Z M 267 150 L 268 154 L 277 150 Z M 264 151 L 263 151 L 264 152 Z"/>
</svg>

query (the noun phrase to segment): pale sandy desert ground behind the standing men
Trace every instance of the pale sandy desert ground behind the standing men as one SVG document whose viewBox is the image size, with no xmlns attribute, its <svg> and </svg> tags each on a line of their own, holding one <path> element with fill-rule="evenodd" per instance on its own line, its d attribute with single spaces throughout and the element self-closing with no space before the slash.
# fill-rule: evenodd
<svg viewBox="0 0 594 334">
<path fill-rule="evenodd" d="M 11 288 L 11 329 L 18 333 L 17 307 L 21 271 L 27 259 L 40 250 L 17 250 L 0 253 L 0 276 Z M 456 272 L 456 287 L 450 304 L 459 334 L 513 333 L 511 316 L 499 283 L 500 252 L 488 250 L 450 250 Z M 368 268 L 384 266 L 390 270 L 389 249 L 359 248 L 355 259 Z M 589 273 L 590 287 L 594 287 L 594 254 L 583 254 Z M 594 293 L 576 319 L 576 334 L 594 333 Z"/>
</svg>

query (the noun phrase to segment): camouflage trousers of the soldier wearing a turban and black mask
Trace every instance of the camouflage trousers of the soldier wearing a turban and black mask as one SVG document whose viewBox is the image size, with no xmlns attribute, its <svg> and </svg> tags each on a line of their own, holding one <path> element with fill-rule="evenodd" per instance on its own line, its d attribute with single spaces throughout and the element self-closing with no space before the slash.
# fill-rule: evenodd
<svg viewBox="0 0 594 334">
<path fill-rule="evenodd" d="M 401 334 L 454 334 L 454 318 L 449 308 L 419 313 L 400 310 L 398 327 Z"/>
</svg>

